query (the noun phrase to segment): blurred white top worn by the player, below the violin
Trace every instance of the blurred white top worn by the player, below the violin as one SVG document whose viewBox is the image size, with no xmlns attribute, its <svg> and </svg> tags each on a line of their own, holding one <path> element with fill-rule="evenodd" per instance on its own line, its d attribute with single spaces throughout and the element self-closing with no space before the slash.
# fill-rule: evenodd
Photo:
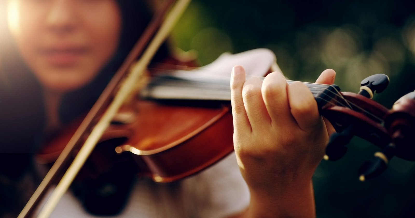
<svg viewBox="0 0 415 218">
<path fill-rule="evenodd" d="M 239 172 L 235 154 L 199 173 L 173 184 L 138 180 L 120 218 L 221 218 L 249 205 L 249 190 Z M 67 192 L 51 218 L 94 218 Z"/>
</svg>

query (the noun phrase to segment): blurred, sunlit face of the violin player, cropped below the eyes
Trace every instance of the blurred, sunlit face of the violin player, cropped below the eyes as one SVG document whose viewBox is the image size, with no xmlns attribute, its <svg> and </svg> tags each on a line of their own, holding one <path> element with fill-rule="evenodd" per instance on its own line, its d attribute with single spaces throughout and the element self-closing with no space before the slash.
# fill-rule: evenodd
<svg viewBox="0 0 415 218">
<path fill-rule="evenodd" d="M 7 13 L 24 61 L 50 90 L 86 85 L 117 49 L 115 0 L 9 0 Z"/>
</svg>

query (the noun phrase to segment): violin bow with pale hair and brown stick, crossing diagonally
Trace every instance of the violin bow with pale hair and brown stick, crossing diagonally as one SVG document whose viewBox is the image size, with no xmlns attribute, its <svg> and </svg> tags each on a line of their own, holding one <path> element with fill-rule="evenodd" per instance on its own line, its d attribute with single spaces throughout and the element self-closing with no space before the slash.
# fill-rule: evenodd
<svg viewBox="0 0 415 218">
<path fill-rule="evenodd" d="M 134 88 L 136 87 L 135 85 L 137 80 L 140 78 L 140 76 L 142 76 L 147 65 L 160 47 L 161 43 L 163 43 L 167 38 L 168 34 L 173 29 L 173 26 L 177 23 L 178 19 L 187 8 L 190 0 L 178 0 L 176 4 L 172 6 L 173 3 L 174 0 L 167 0 L 162 6 L 161 10 L 156 13 L 154 19 L 152 19 L 149 26 L 144 31 L 143 36 L 140 37 L 139 41 L 134 45 L 132 51 L 127 56 L 120 69 L 117 70 L 110 83 L 108 83 L 107 87 L 98 98 L 97 102 L 95 102 L 92 109 L 88 112 L 80 127 L 76 130 L 68 145 L 65 147 L 61 155 L 59 155 L 58 159 L 56 160 L 55 164 L 46 174 L 44 180 L 42 180 L 41 184 L 29 199 L 28 203 L 21 211 L 18 218 L 27 218 L 31 215 L 31 213 L 33 213 L 34 209 L 39 204 L 39 201 L 51 186 L 52 182 L 56 180 L 57 175 L 62 171 L 62 168 L 68 164 L 68 161 L 71 159 L 70 156 L 73 153 L 73 150 L 77 147 L 77 145 L 81 144 L 82 136 L 84 136 L 86 133 L 88 133 L 89 130 L 92 129 L 92 132 L 85 140 L 72 164 L 69 166 L 68 170 L 61 178 L 55 190 L 46 201 L 44 207 L 41 209 L 38 217 L 47 218 L 51 215 L 59 200 L 62 198 L 63 194 L 65 194 L 65 192 L 68 190 L 78 171 L 81 169 L 86 159 L 93 151 L 96 143 L 103 135 L 103 132 L 109 126 L 112 118 L 117 113 L 118 109 L 120 109 L 130 93 L 133 92 Z M 171 8 L 171 10 L 167 14 L 169 8 Z M 154 35 L 156 31 L 157 33 Z M 149 43 L 152 36 L 154 36 L 154 38 Z M 146 47 L 146 45 L 148 46 Z M 143 52 L 145 47 L 146 50 Z M 141 57 L 138 62 L 133 65 L 134 61 L 140 55 Z M 130 73 L 128 76 L 126 76 L 129 70 Z M 118 85 L 120 83 L 122 83 L 122 85 L 119 87 Z M 117 90 L 118 87 L 119 89 L 111 102 L 111 97 L 113 96 L 112 93 L 115 93 L 115 90 Z M 105 113 L 102 115 L 94 127 L 94 121 L 100 114 L 103 113 L 105 106 L 108 104 L 109 106 L 106 108 Z"/>
</svg>

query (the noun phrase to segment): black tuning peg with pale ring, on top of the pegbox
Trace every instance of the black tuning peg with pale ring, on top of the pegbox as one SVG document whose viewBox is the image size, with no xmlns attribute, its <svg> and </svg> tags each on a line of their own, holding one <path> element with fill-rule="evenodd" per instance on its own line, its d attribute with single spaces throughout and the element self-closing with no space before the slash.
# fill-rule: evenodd
<svg viewBox="0 0 415 218">
<path fill-rule="evenodd" d="M 389 77 L 385 74 L 375 74 L 360 82 L 359 95 L 363 95 L 368 98 L 373 97 L 373 93 L 381 93 L 389 84 Z"/>
</svg>

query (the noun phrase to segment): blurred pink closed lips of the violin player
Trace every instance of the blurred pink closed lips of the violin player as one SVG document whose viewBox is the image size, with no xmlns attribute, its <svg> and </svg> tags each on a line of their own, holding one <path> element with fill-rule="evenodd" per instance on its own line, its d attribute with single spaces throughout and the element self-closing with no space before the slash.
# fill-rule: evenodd
<svg viewBox="0 0 415 218">
<path fill-rule="evenodd" d="M 39 54 L 47 63 L 58 67 L 73 66 L 87 53 L 88 48 L 81 46 L 51 46 L 39 49 Z"/>
</svg>

